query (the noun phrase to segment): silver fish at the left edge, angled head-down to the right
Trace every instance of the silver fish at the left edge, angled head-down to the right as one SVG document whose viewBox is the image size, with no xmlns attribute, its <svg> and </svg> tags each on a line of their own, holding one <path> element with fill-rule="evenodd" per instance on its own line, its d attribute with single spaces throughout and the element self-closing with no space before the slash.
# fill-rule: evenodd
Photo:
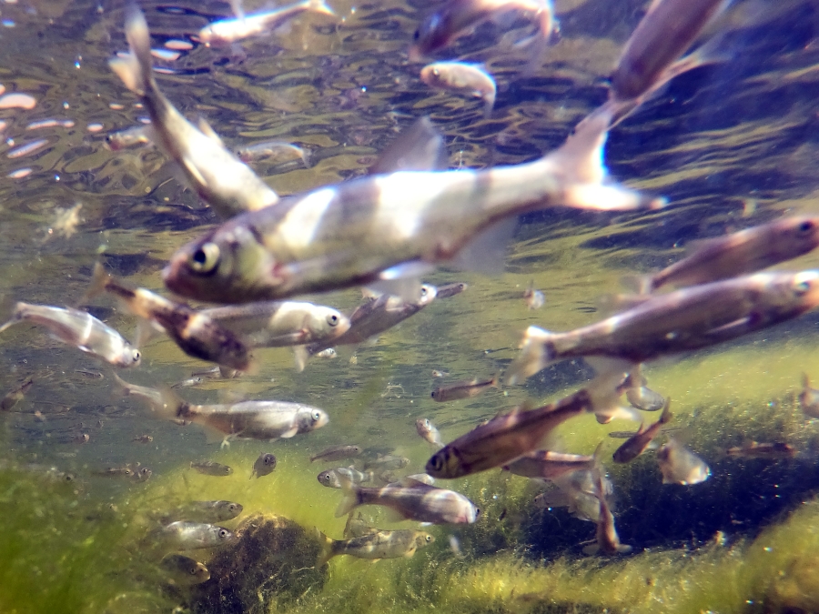
<svg viewBox="0 0 819 614">
<path fill-rule="evenodd" d="M 142 354 L 125 337 L 86 311 L 20 302 L 16 304 L 12 318 L 0 327 L 0 333 L 20 322 L 46 327 L 56 339 L 115 367 L 137 367 L 142 361 Z"/>
</svg>

